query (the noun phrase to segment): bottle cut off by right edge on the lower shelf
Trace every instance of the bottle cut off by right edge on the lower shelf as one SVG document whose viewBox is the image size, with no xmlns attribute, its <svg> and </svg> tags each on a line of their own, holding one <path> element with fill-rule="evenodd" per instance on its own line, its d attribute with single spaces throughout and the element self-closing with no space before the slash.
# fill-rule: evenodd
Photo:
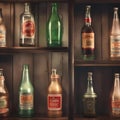
<svg viewBox="0 0 120 120">
<path fill-rule="evenodd" d="M 120 83 L 119 73 L 115 73 L 114 89 L 112 93 L 112 116 L 120 117 Z"/>
</svg>

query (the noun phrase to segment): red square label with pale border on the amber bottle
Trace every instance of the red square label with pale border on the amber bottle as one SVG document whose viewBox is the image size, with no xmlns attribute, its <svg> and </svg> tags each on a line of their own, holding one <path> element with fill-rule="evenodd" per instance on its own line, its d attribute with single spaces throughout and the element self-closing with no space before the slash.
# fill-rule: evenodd
<svg viewBox="0 0 120 120">
<path fill-rule="evenodd" d="M 61 110 L 61 109 L 62 109 L 62 95 L 48 94 L 48 110 Z"/>
</svg>

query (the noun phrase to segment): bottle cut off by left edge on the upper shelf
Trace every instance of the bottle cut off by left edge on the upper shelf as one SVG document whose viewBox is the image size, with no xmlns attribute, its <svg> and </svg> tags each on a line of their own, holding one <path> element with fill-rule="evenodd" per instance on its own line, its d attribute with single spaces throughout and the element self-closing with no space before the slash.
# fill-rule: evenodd
<svg viewBox="0 0 120 120">
<path fill-rule="evenodd" d="M 6 26 L 3 20 L 2 8 L 0 8 L 0 47 L 6 47 Z"/>
</svg>

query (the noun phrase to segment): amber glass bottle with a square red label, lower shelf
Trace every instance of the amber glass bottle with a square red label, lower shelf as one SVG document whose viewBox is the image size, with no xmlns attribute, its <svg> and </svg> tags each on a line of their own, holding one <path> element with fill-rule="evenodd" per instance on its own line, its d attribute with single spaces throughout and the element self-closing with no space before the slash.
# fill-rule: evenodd
<svg viewBox="0 0 120 120">
<path fill-rule="evenodd" d="M 52 69 L 51 82 L 48 86 L 47 106 L 49 117 L 62 116 L 62 87 L 59 82 L 60 76 L 56 69 Z"/>
</svg>

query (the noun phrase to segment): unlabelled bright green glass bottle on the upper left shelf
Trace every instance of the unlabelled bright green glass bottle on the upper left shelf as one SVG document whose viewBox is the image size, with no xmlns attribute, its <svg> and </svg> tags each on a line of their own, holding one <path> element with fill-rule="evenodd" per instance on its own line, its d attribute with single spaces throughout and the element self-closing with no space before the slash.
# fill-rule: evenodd
<svg viewBox="0 0 120 120">
<path fill-rule="evenodd" d="M 47 21 L 46 34 L 48 47 L 62 46 L 63 24 L 58 14 L 57 3 L 52 3 L 52 13 Z"/>
</svg>

